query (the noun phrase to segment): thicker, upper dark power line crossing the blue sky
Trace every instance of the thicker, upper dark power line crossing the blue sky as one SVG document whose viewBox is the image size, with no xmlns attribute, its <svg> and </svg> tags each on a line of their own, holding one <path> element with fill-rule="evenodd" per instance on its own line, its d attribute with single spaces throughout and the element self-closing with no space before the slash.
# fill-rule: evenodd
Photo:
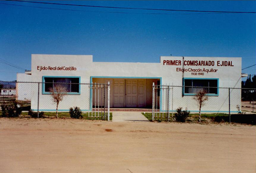
<svg viewBox="0 0 256 173">
<path fill-rule="evenodd" d="M 88 6 L 88 5 L 78 5 L 78 4 L 34 2 L 34 1 L 26 1 L 26 0 L 8 0 L 8 1 L 17 1 L 17 2 L 26 2 L 26 3 L 41 3 L 41 4 L 63 5 L 63 6 L 83 6 L 83 7 L 95 7 L 95 8 L 108 8 L 108 9 L 186 11 L 186 12 L 211 12 L 211 13 L 256 13 L 256 12 L 246 12 L 246 11 L 200 11 L 200 10 L 174 10 L 174 9 L 145 9 L 145 8 L 112 7 L 112 6 Z"/>
</svg>

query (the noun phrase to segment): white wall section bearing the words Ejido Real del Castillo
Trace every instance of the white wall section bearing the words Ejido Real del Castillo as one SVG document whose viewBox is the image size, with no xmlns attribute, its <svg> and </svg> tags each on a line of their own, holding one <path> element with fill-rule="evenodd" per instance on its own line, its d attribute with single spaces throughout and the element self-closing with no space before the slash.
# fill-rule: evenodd
<svg viewBox="0 0 256 173">
<path fill-rule="evenodd" d="M 54 66 L 74 66 L 76 71 L 62 71 L 62 70 L 38 70 L 38 66 L 54 67 Z M 76 76 L 81 77 L 81 83 L 90 83 L 90 70 L 92 66 L 91 55 L 43 55 L 32 54 L 32 81 L 42 82 L 43 76 Z M 50 95 L 42 94 L 42 85 L 39 88 L 39 109 L 41 111 L 54 111 L 56 104 L 52 102 Z M 81 85 L 80 95 L 67 95 L 59 104 L 59 111 L 68 111 L 70 107 L 78 106 L 81 110 L 86 111 L 90 109 L 90 89 L 87 85 Z M 37 109 L 38 89 L 32 89 L 31 108 Z"/>
</svg>

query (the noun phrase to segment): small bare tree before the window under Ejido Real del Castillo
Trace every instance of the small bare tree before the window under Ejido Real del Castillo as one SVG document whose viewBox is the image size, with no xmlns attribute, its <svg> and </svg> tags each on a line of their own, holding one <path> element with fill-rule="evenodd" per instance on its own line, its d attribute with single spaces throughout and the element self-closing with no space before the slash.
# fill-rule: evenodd
<svg viewBox="0 0 256 173">
<path fill-rule="evenodd" d="M 58 118 L 58 105 L 63 100 L 64 96 L 67 95 L 67 90 L 61 85 L 55 85 L 54 88 L 50 88 L 52 101 L 57 104 L 56 106 L 56 118 Z"/>
</svg>

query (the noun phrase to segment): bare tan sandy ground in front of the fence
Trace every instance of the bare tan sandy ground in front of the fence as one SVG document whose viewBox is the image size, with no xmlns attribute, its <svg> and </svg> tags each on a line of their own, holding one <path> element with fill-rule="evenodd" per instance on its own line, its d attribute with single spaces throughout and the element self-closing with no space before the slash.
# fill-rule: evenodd
<svg viewBox="0 0 256 173">
<path fill-rule="evenodd" d="M 1 173 L 130 171 L 255 173 L 256 126 L 0 118 Z"/>
</svg>

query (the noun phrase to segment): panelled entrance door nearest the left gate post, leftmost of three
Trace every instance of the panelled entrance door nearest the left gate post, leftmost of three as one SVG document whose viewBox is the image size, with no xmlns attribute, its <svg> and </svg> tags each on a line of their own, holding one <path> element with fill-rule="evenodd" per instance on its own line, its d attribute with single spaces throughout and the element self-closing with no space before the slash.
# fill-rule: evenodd
<svg viewBox="0 0 256 173">
<path fill-rule="evenodd" d="M 125 107 L 125 79 L 113 80 L 113 108 Z"/>
</svg>

